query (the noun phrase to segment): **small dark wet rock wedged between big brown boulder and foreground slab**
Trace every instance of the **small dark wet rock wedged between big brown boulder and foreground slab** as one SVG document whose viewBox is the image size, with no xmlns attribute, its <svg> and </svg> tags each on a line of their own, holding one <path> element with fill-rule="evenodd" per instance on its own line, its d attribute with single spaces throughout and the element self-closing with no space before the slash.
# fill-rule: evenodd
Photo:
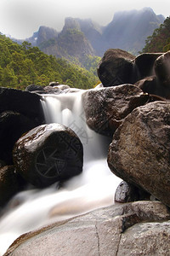
<svg viewBox="0 0 170 256">
<path fill-rule="evenodd" d="M 115 201 L 125 203 L 129 201 L 150 200 L 150 194 L 133 184 L 122 181 L 116 189 Z"/>
</svg>

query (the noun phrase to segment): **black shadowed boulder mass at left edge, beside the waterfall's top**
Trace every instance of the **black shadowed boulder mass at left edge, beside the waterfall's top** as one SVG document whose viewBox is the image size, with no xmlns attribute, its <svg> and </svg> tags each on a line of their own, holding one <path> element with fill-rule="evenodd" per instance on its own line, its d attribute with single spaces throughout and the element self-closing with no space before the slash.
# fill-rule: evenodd
<svg viewBox="0 0 170 256">
<path fill-rule="evenodd" d="M 0 160 L 13 164 L 14 143 L 26 131 L 44 122 L 37 94 L 0 87 Z"/>
</svg>

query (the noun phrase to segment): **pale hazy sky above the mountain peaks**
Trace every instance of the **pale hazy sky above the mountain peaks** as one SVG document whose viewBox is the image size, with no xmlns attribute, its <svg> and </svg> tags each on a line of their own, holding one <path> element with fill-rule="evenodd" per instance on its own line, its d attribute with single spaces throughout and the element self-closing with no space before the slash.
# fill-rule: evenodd
<svg viewBox="0 0 170 256">
<path fill-rule="evenodd" d="M 116 11 L 151 7 L 156 15 L 170 15 L 169 0 L 0 0 L 0 32 L 28 38 L 39 26 L 60 31 L 65 17 L 111 22 Z"/>
</svg>

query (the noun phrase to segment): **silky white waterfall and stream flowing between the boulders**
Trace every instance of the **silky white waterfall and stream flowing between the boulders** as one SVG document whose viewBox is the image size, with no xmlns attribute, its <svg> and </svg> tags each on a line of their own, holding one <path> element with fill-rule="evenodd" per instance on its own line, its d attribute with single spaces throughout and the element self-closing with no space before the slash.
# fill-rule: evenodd
<svg viewBox="0 0 170 256">
<path fill-rule="evenodd" d="M 23 191 L 13 199 L 22 204 L 5 212 L 0 219 L 0 255 L 21 234 L 65 218 L 113 204 L 116 187 L 121 179 L 107 166 L 111 139 L 88 128 L 82 108 L 83 91 L 42 96 L 47 123 L 70 127 L 80 137 L 84 148 L 83 172 L 71 178 L 62 189 Z"/>
</svg>

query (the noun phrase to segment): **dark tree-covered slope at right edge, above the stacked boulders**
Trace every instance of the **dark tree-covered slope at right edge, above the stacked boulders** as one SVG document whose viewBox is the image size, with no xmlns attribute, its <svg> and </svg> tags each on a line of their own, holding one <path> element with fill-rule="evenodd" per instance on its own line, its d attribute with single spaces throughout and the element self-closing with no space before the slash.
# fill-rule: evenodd
<svg viewBox="0 0 170 256">
<path fill-rule="evenodd" d="M 164 20 L 145 43 L 142 52 L 166 52 L 170 49 L 170 17 Z"/>
</svg>

